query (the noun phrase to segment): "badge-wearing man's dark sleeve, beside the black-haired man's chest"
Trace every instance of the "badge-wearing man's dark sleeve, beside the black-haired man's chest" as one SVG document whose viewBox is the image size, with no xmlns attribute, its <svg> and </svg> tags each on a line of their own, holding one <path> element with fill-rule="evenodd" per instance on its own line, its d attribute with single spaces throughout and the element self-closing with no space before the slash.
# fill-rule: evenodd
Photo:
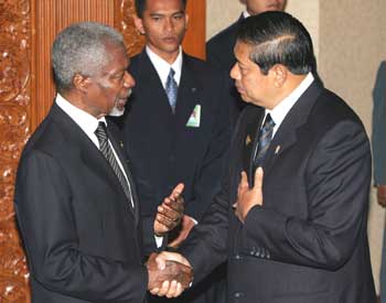
<svg viewBox="0 0 386 303">
<path fill-rule="evenodd" d="M 185 205 L 185 214 L 200 223 L 203 214 L 212 203 L 214 195 L 219 191 L 221 175 L 224 169 L 224 155 L 230 144 L 230 97 L 227 90 L 227 80 L 222 80 L 218 87 L 217 109 L 215 123 L 211 133 L 211 140 L 204 160 L 201 163 L 200 173 L 194 184 L 194 199 Z"/>
</svg>

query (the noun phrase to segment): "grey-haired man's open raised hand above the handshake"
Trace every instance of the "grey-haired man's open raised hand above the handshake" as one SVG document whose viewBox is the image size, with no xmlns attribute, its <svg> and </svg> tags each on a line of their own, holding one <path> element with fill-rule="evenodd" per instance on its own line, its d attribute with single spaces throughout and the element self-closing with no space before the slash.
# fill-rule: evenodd
<svg viewBox="0 0 386 303">
<path fill-rule="evenodd" d="M 184 199 L 182 197 L 184 185 L 180 183 L 174 187 L 169 197 L 158 207 L 154 219 L 154 234 L 163 237 L 167 232 L 174 229 L 184 214 Z"/>
</svg>

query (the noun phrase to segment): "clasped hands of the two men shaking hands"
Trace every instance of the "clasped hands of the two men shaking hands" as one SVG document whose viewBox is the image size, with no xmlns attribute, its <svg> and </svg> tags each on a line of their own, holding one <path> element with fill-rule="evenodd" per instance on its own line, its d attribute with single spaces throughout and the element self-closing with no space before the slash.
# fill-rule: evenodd
<svg viewBox="0 0 386 303">
<path fill-rule="evenodd" d="M 147 262 L 151 294 L 167 297 L 179 296 L 191 286 L 193 270 L 189 261 L 179 253 L 151 253 Z"/>
</svg>

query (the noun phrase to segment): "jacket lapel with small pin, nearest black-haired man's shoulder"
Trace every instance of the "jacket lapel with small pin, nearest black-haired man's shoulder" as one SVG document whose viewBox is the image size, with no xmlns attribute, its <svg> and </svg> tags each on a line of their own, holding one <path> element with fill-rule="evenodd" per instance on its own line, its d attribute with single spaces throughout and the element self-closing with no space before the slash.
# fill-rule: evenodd
<svg viewBox="0 0 386 303">
<path fill-rule="evenodd" d="M 264 160 L 265 177 L 269 174 L 276 160 L 297 142 L 297 130 L 307 122 L 310 111 L 322 91 L 322 84 L 314 80 L 287 113 Z"/>
</svg>

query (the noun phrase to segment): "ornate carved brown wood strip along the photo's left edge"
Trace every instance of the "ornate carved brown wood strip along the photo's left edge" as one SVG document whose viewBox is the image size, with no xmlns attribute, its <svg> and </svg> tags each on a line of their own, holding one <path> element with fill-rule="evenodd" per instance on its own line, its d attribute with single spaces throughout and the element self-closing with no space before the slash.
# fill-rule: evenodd
<svg viewBox="0 0 386 303">
<path fill-rule="evenodd" d="M 29 136 L 31 3 L 0 1 L 0 302 L 28 302 L 28 269 L 15 229 L 13 183 Z"/>
</svg>

